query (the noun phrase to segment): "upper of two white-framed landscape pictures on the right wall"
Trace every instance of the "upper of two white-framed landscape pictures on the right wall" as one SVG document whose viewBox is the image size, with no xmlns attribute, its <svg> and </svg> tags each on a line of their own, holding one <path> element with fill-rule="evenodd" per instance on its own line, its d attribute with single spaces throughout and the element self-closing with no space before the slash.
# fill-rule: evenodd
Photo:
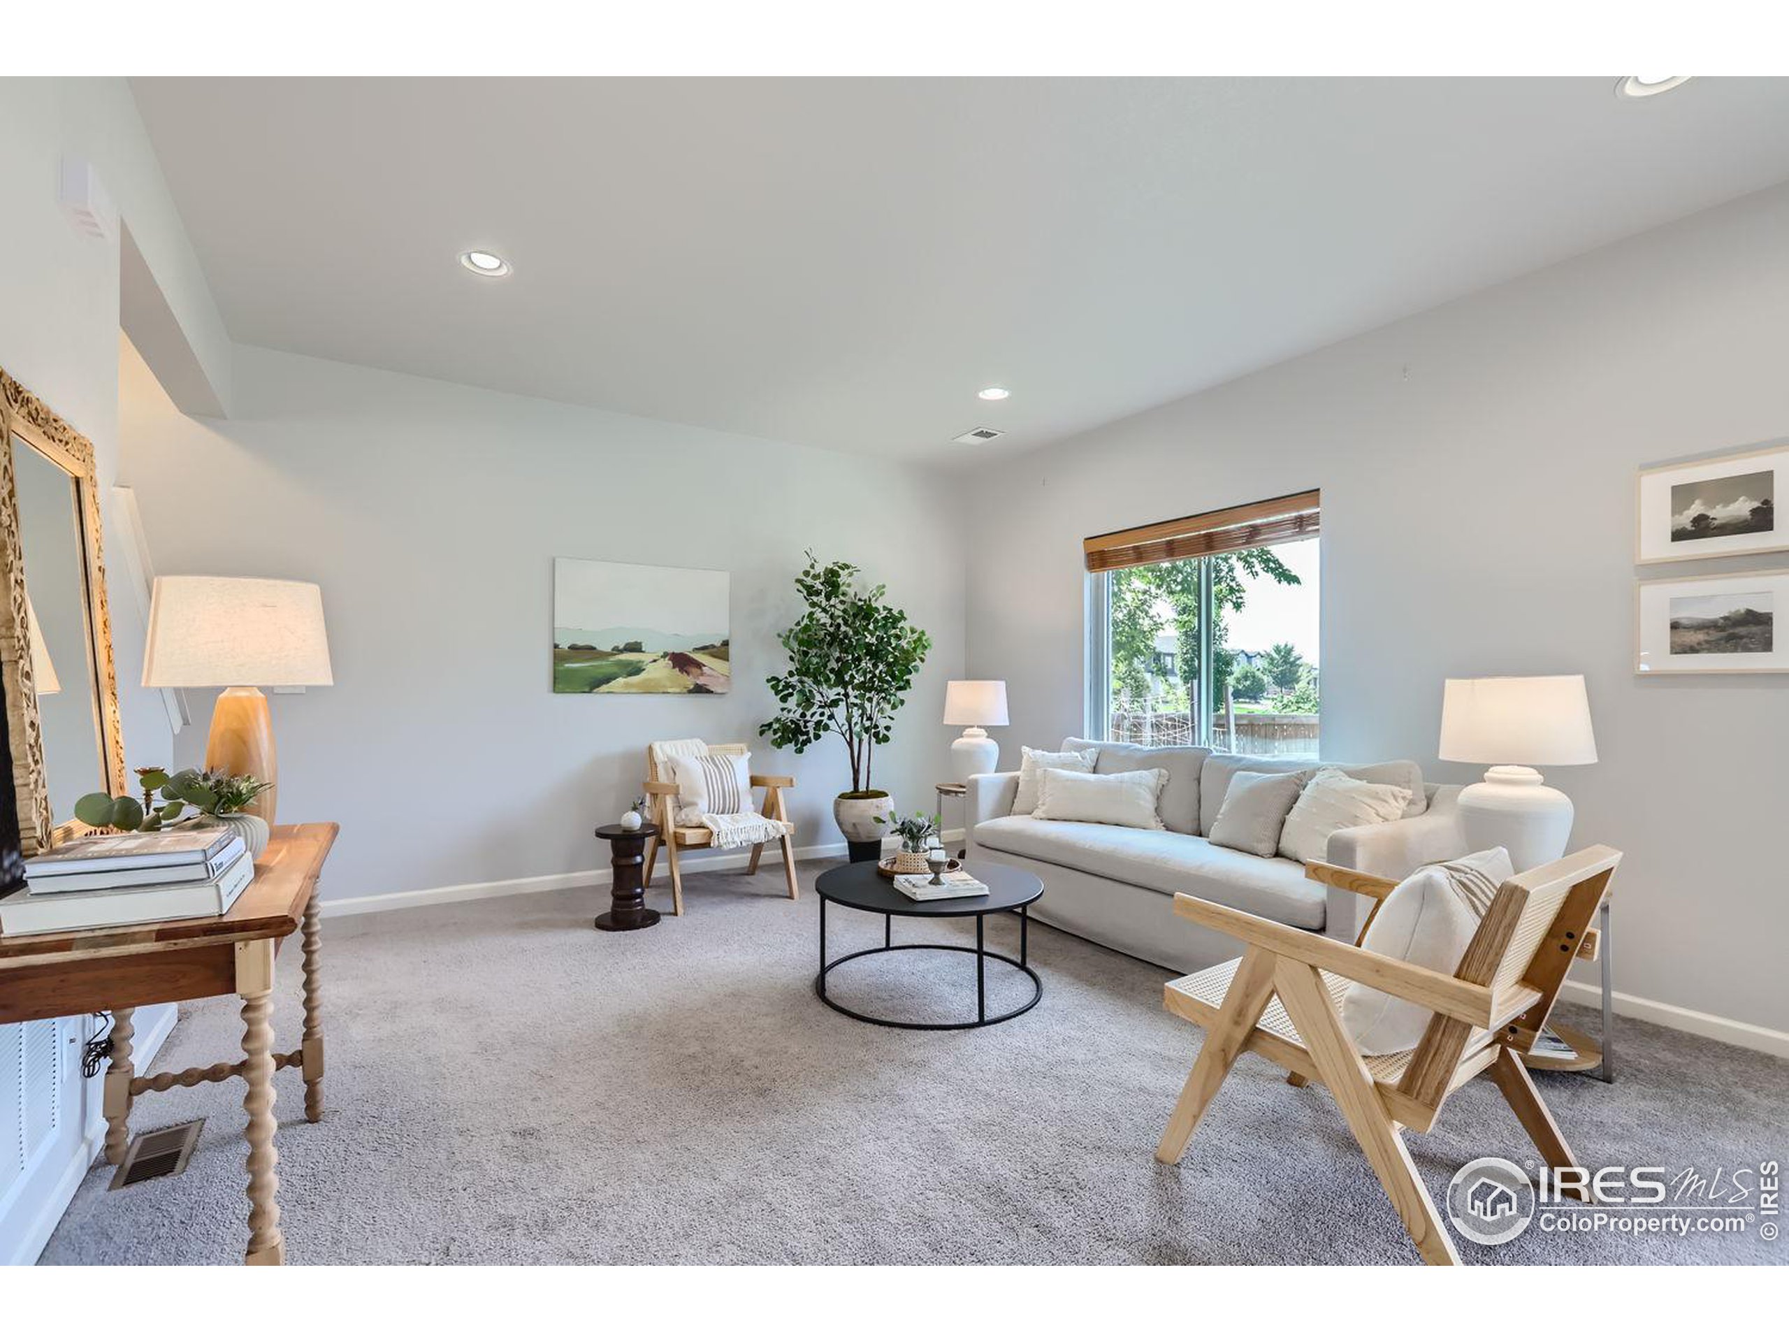
<svg viewBox="0 0 1789 1342">
<path fill-rule="evenodd" d="M 1641 471 L 1639 564 L 1768 555 L 1789 549 L 1776 490 L 1789 480 L 1789 442 Z"/>
</svg>

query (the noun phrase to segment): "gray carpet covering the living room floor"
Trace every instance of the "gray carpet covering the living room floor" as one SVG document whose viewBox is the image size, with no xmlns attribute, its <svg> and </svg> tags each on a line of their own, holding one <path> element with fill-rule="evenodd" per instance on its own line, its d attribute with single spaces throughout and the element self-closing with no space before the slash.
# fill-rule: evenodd
<svg viewBox="0 0 1789 1342">
<path fill-rule="evenodd" d="M 818 868 L 803 868 L 812 889 Z M 689 916 L 601 934 L 598 891 L 324 923 L 327 1113 L 277 1079 L 297 1263 L 1412 1263 L 1327 1093 L 1245 1057 L 1181 1168 L 1152 1159 L 1199 1031 L 1161 970 L 1034 925 L 1043 1002 L 986 1031 L 887 1031 L 814 998 L 816 909 L 776 875 L 698 875 Z M 660 904 L 664 900 L 658 900 Z M 880 939 L 834 911 L 832 950 Z M 1005 945 L 1014 925 L 995 934 Z M 909 939 L 937 939 L 916 936 Z M 297 1040 L 297 947 L 274 1025 Z M 1027 984 L 1004 973 L 993 1009 Z M 973 1002 L 966 956 L 837 972 L 835 995 Z M 1542 1077 L 1590 1165 L 1789 1156 L 1789 1065 L 1619 1022 L 1615 1086 Z M 233 1004 L 186 1007 L 157 1066 L 238 1056 Z M 82 1183 L 48 1263 L 231 1263 L 245 1236 L 242 1086 L 147 1095 L 134 1129 L 208 1118 L 186 1174 Z M 1440 1199 L 1476 1156 L 1533 1154 L 1490 1083 L 1410 1140 Z M 1730 1236 L 1542 1235 L 1478 1263 L 1784 1261 Z"/>
</svg>

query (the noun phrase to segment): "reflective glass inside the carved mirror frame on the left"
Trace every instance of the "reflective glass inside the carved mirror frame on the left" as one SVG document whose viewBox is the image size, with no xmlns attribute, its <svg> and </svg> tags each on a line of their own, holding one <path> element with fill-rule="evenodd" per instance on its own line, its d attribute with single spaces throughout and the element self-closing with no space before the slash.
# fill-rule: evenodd
<svg viewBox="0 0 1789 1342">
<path fill-rule="evenodd" d="M 73 820 L 81 796 L 106 791 L 81 490 L 73 476 L 25 438 L 14 435 L 11 447 L 43 771 L 50 818 L 61 825 Z"/>
</svg>

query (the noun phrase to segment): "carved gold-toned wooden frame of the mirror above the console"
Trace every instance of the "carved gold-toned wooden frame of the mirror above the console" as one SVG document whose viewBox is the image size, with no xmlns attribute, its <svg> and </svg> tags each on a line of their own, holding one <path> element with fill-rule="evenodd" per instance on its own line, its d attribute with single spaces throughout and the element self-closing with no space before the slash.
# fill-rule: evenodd
<svg viewBox="0 0 1789 1342">
<path fill-rule="evenodd" d="M 23 438 L 68 472 L 79 494 L 82 578 L 88 607 L 88 655 L 97 687 L 95 716 L 106 786 L 125 791 L 123 719 L 118 712 L 118 671 L 113 666 L 111 610 L 106 605 L 106 564 L 100 555 L 100 490 L 93 444 L 61 415 L 0 369 L 0 684 L 5 687 L 7 734 L 13 743 L 13 791 L 18 796 L 20 846 L 39 854 L 86 830 L 73 816 L 52 818 L 43 766 L 43 726 L 32 684 L 30 628 L 25 605 L 25 551 L 20 542 L 18 476 L 13 442 Z"/>
</svg>

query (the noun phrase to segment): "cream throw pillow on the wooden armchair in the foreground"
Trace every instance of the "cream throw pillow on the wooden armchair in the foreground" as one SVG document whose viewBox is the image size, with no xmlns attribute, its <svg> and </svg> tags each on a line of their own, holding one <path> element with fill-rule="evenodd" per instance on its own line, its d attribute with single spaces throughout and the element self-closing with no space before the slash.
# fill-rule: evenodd
<svg viewBox="0 0 1789 1342">
<path fill-rule="evenodd" d="M 1472 943 L 1497 886 L 1515 875 L 1510 854 L 1487 848 L 1453 862 L 1419 866 L 1379 904 L 1361 939 L 1363 950 L 1453 973 Z M 1363 1054 L 1401 1054 L 1422 1043 L 1433 1013 L 1426 1006 L 1349 984 L 1342 993 L 1342 1025 Z"/>
</svg>

